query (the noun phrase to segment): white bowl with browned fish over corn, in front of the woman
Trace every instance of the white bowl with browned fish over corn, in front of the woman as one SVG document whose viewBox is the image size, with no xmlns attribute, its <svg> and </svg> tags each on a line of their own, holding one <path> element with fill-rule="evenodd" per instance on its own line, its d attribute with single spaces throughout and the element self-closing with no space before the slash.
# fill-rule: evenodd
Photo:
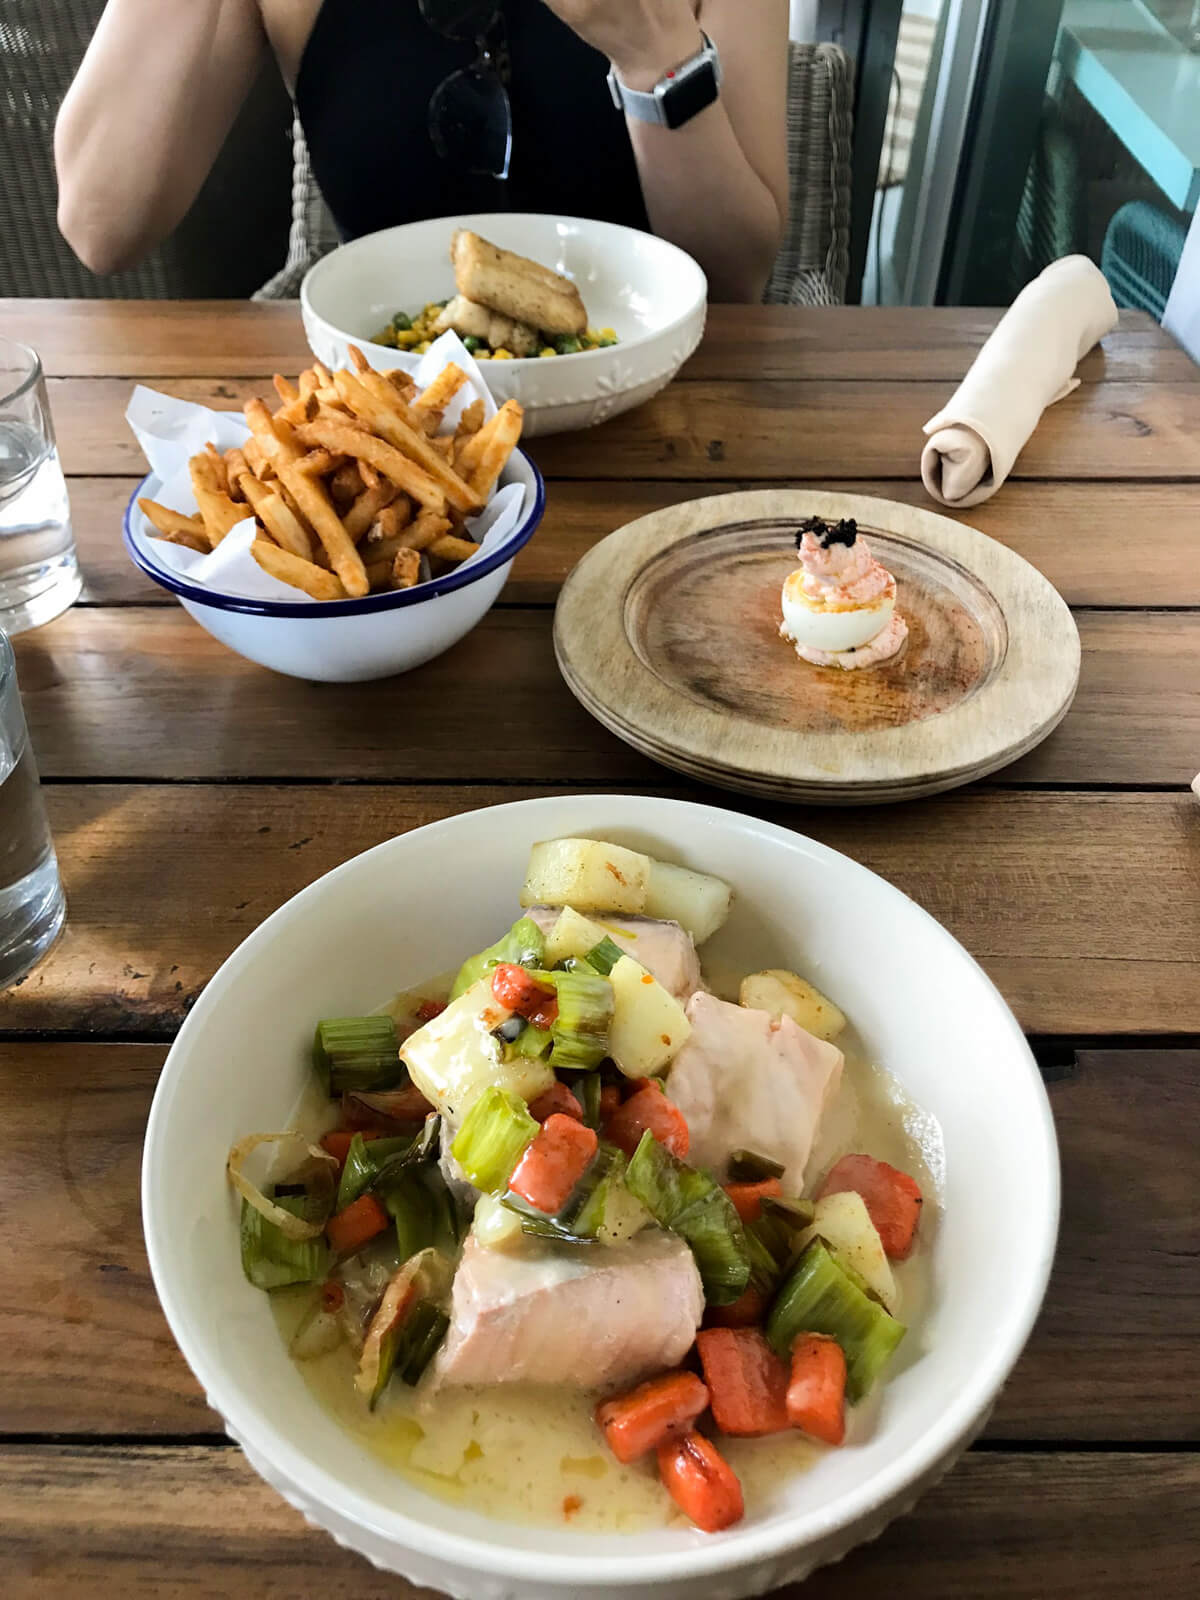
<svg viewBox="0 0 1200 1600">
<path fill-rule="evenodd" d="M 414 370 L 454 330 L 525 434 L 592 427 L 658 394 L 704 333 L 707 282 L 685 251 L 616 222 L 486 213 L 366 234 L 301 285 L 312 352 L 350 346 Z"/>
</svg>

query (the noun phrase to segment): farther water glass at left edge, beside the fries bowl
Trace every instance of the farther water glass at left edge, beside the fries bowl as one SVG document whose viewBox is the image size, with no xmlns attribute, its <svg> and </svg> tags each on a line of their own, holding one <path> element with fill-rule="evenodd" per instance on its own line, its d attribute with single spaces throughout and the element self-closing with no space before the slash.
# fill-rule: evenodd
<svg viewBox="0 0 1200 1600">
<path fill-rule="evenodd" d="M 0 627 L 22 634 L 78 598 L 67 485 L 35 350 L 0 339 Z"/>
</svg>

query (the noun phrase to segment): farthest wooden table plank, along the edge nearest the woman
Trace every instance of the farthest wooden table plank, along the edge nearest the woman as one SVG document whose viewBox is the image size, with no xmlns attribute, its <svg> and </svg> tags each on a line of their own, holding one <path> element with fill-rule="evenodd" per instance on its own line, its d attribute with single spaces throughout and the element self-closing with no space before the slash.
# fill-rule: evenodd
<svg viewBox="0 0 1200 1600">
<path fill-rule="evenodd" d="M 957 382 L 998 318 L 990 307 L 710 306 L 683 378 Z M 0 333 L 32 344 L 51 378 L 294 376 L 310 360 L 296 301 L 0 301 Z M 1152 317 L 1123 310 L 1078 376 L 1194 382 L 1200 368 Z"/>
</svg>

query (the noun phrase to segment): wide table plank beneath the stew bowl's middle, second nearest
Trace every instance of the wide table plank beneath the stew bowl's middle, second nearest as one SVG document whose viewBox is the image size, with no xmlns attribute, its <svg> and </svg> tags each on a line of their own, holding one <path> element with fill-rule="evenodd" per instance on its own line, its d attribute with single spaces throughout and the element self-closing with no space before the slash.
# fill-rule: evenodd
<svg viewBox="0 0 1200 1600">
<path fill-rule="evenodd" d="M 163 1054 L 0 1043 L 0 1274 L 21 1286 L 0 1299 L 10 1435 L 221 1430 L 158 1310 L 142 1246 L 141 1134 Z M 1200 1147 L 1176 1134 L 1200 1090 L 1200 1051 L 1082 1051 L 1048 1090 L 1066 1194 L 1059 1250 L 989 1437 L 1190 1438 L 1200 1427 Z M 1147 1158 L 1171 1146 L 1170 1163 Z M 88 1382 L 64 1395 L 82 1330 Z"/>
</svg>

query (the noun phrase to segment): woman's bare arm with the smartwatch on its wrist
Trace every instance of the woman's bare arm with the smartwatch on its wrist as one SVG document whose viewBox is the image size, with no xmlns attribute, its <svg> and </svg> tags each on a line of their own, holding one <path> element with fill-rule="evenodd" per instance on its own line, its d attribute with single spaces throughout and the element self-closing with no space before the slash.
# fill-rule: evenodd
<svg viewBox="0 0 1200 1600">
<path fill-rule="evenodd" d="M 722 93 L 682 128 L 629 120 L 656 234 L 690 251 L 714 301 L 758 301 L 787 218 L 787 0 L 546 0 L 630 90 L 694 56 L 722 59 Z M 699 19 L 698 19 L 699 18 Z"/>
</svg>

